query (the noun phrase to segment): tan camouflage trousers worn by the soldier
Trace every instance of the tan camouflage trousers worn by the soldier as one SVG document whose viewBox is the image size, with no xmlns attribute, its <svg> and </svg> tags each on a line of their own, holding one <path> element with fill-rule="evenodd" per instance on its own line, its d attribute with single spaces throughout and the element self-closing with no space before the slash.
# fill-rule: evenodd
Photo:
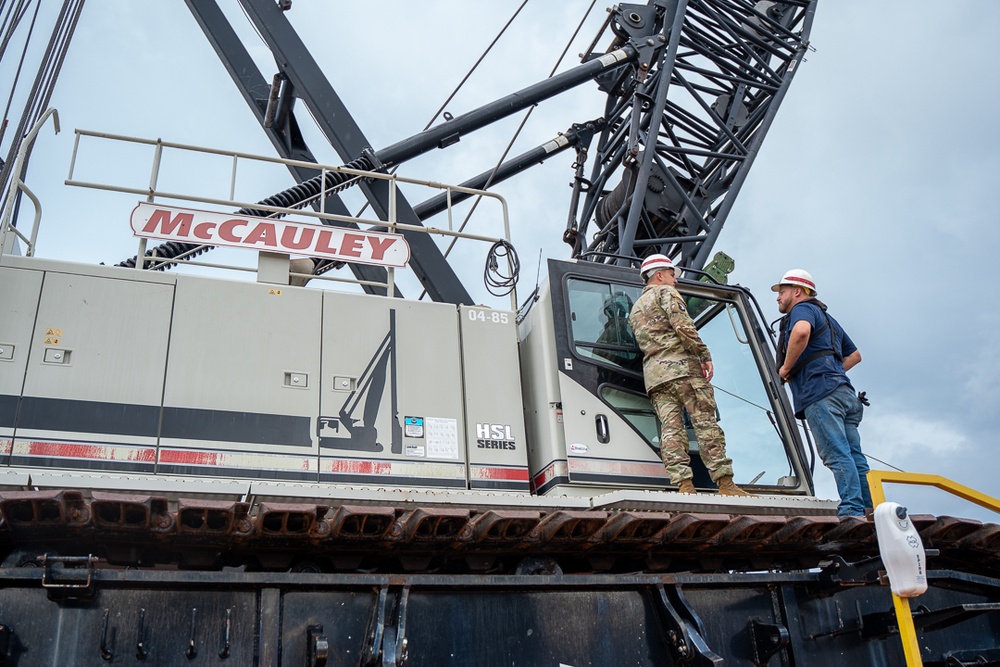
<svg viewBox="0 0 1000 667">
<path fill-rule="evenodd" d="M 678 378 L 654 387 L 649 393 L 660 419 L 660 458 L 671 484 L 691 479 L 691 457 L 683 410 L 691 418 L 698 438 L 698 453 L 712 481 L 732 476 L 733 461 L 726 458 L 726 436 L 715 421 L 715 392 L 701 377 Z"/>
</svg>

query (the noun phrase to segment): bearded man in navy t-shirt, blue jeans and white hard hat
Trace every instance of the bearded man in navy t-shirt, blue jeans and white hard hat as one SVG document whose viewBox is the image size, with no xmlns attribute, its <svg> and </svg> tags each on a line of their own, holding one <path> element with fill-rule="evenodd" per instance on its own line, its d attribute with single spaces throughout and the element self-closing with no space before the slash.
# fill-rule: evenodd
<svg viewBox="0 0 1000 667">
<path fill-rule="evenodd" d="M 858 347 L 816 299 L 816 283 L 802 269 L 788 271 L 771 287 L 781 321 L 778 374 L 792 389 L 795 416 L 805 418 L 823 464 L 840 494 L 837 516 L 864 516 L 872 506 L 868 461 L 858 425 L 864 406 L 847 379 L 861 361 Z"/>
</svg>

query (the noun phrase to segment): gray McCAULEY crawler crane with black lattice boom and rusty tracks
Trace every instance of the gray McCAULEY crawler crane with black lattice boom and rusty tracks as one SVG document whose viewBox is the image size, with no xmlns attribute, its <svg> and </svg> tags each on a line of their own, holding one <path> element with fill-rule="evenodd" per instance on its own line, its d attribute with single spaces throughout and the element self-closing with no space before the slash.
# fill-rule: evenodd
<svg viewBox="0 0 1000 667">
<path fill-rule="evenodd" d="M 187 0 L 295 186 L 185 198 L 157 185 L 168 152 L 269 158 L 80 130 L 67 182 L 124 193 L 136 255 L 42 258 L 5 207 L 0 663 L 1000 664 L 1000 527 L 909 517 L 929 588 L 897 615 L 873 521 L 816 498 L 773 336 L 712 254 L 816 0 L 615 5 L 579 65 L 383 148 L 292 3 L 239 3 L 270 79 L 215 0 Z M 457 186 L 396 171 L 580 85 L 604 108 L 496 169 Z M 106 142 L 151 148 L 148 188 L 73 175 Z M 509 233 L 426 223 L 482 197 L 540 226 L 506 221 L 505 184 L 564 151 L 567 257 L 520 303 L 477 303 L 435 235 L 480 243 L 505 298 Z M 9 201 L 30 195 L 20 164 Z M 227 245 L 256 253 L 255 280 L 185 270 Z M 650 253 L 682 269 L 753 497 L 715 493 L 693 432 L 700 493 L 664 473 L 624 319 Z M 404 266 L 429 300 L 402 294 Z M 360 287 L 334 289 L 341 269 Z"/>
</svg>

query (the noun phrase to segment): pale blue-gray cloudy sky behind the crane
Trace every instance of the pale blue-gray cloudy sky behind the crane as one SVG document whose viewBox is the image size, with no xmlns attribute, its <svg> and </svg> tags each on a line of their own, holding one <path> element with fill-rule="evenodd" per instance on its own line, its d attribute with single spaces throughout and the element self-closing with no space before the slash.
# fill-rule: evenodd
<svg viewBox="0 0 1000 667">
<path fill-rule="evenodd" d="M 270 79 L 266 48 L 235 3 L 224 4 Z M 381 148 L 424 128 L 520 4 L 495 0 L 470 11 L 468 2 L 387 0 L 374 11 L 364 3 L 295 0 L 288 17 L 371 145 Z M 528 3 L 447 111 L 458 115 L 546 77 L 590 6 Z M 562 69 L 575 64 L 605 9 L 593 6 Z M 947 9 L 929 0 L 820 0 L 814 50 L 715 246 L 736 260 L 731 281 L 750 288 L 773 317 L 768 287 L 788 268 L 813 274 L 864 356 L 852 378 L 872 400 L 862 438 L 877 459 L 873 468 L 940 474 L 992 496 L 1000 496 L 998 33 L 994 0 L 952 0 Z M 88 3 L 52 105 L 63 132 L 41 132 L 28 175 L 42 198 L 44 256 L 110 264 L 135 252 L 127 227 L 134 198 L 111 200 L 62 184 L 75 129 L 273 155 L 181 2 Z M 512 154 L 601 109 L 593 86 L 539 105 Z M 305 109 L 297 112 L 318 159 L 342 163 Z M 413 160 L 400 173 L 460 182 L 493 166 L 521 118 Z M 84 157 L 95 172 L 117 169 L 140 185 L 145 178 L 146 166 Z M 552 159 L 498 189 L 510 202 L 522 295 L 534 284 L 539 253 L 567 255 L 560 237 L 571 161 Z M 195 167 L 185 176 L 204 174 Z M 280 171 L 255 176 L 258 182 L 244 186 L 254 200 L 291 183 Z M 496 233 L 495 224 L 486 219 L 477 231 Z M 474 295 L 490 302 L 477 287 L 481 252 L 463 246 L 455 265 Z M 410 284 L 408 294 L 415 291 Z M 822 466 L 817 483 L 819 495 L 835 497 Z M 891 487 L 888 495 L 913 512 L 997 520 L 942 492 Z"/>
</svg>

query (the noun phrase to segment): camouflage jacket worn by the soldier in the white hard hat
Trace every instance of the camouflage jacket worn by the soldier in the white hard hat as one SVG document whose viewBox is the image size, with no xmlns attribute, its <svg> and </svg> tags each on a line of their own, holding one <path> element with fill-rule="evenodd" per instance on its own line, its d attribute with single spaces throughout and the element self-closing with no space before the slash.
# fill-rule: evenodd
<svg viewBox="0 0 1000 667">
<path fill-rule="evenodd" d="M 646 391 L 677 378 L 701 376 L 701 364 L 712 360 L 684 297 L 673 287 L 646 285 L 628 320 L 643 353 Z"/>
</svg>

